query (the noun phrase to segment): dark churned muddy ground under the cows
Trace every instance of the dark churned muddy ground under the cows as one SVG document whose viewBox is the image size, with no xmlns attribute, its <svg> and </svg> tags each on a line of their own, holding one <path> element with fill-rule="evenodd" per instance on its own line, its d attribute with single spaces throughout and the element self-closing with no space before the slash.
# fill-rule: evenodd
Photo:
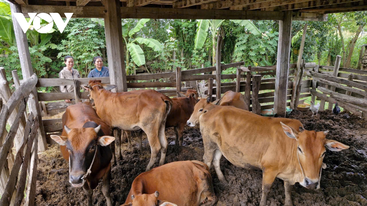
<svg viewBox="0 0 367 206">
<path fill-rule="evenodd" d="M 350 146 L 348 150 L 333 152 L 327 150 L 324 163 L 327 168 L 322 171 L 320 190 L 308 190 L 298 183 L 292 192 L 295 206 L 367 206 L 367 121 L 357 117 L 346 117 L 343 113 L 334 116 L 330 110 L 319 112 L 311 118 L 311 111 L 294 111 L 289 116 L 299 119 L 307 130 L 330 130 L 328 139 L 334 139 Z M 184 146 L 174 146 L 173 129 L 167 129 L 169 147 L 166 163 L 184 160 L 202 160 L 203 140 L 198 126 L 185 128 Z M 137 139 L 134 147 L 127 149 L 124 145 L 123 159 L 112 168 L 111 196 L 113 205 L 124 203 L 134 178 L 145 171 L 150 158 L 148 141 L 143 141 L 144 150 L 139 151 Z M 87 205 L 82 188 L 72 188 L 68 182 L 68 163 L 62 158 L 59 146 L 40 154 L 37 176 L 36 204 L 51 205 Z M 157 166 L 159 160 L 155 166 Z M 221 169 L 229 184 L 219 183 L 212 167 L 211 174 L 217 206 L 259 205 L 261 200 L 262 173 L 259 170 L 246 170 L 221 159 Z M 93 205 L 104 206 L 102 182 L 94 191 Z M 276 179 L 268 196 L 271 206 L 284 205 L 283 181 Z"/>
</svg>

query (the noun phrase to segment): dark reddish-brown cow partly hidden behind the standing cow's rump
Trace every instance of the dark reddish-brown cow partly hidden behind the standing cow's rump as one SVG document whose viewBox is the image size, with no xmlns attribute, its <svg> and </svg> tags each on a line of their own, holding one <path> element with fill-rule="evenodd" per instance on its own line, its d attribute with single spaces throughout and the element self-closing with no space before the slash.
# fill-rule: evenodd
<svg viewBox="0 0 367 206">
<path fill-rule="evenodd" d="M 183 97 L 172 98 L 172 110 L 167 117 L 166 128 L 174 127 L 176 136 L 176 145 L 182 146 L 183 128 L 194 111 L 197 99 L 197 92 L 194 89 L 188 89 L 186 93 L 178 92 Z"/>
</svg>

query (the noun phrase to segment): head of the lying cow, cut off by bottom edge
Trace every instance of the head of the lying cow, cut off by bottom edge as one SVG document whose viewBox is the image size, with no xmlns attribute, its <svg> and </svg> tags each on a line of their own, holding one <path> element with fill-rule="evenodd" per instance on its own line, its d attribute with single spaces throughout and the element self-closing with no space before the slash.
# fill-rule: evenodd
<svg viewBox="0 0 367 206">
<path fill-rule="evenodd" d="M 177 206 L 174 203 L 158 200 L 159 192 L 154 194 L 131 195 L 132 202 L 121 206 Z"/>
</svg>

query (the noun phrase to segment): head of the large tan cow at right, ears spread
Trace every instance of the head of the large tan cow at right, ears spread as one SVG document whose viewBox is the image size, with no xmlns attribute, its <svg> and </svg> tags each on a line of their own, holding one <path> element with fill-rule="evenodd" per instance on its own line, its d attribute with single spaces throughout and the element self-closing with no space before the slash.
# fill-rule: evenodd
<svg viewBox="0 0 367 206">
<path fill-rule="evenodd" d="M 297 150 L 298 164 L 303 174 L 303 180 L 299 184 L 309 189 L 319 189 L 321 166 L 326 148 L 331 151 L 341 151 L 348 149 L 349 146 L 326 139 L 329 130 L 316 132 L 299 127 L 299 132 L 297 132 L 296 129 L 283 124 L 283 122 L 280 124 L 288 137 L 297 140 L 298 145 L 295 149 Z"/>
</svg>

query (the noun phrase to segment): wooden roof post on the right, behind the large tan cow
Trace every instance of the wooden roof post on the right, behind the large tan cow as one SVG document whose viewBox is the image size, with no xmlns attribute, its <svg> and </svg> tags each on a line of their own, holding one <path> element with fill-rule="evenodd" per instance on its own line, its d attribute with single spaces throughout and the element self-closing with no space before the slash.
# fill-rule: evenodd
<svg viewBox="0 0 367 206">
<path fill-rule="evenodd" d="M 292 11 L 284 11 L 283 21 L 279 21 L 279 41 L 275 78 L 274 112 L 278 117 L 286 117 L 291 29 Z"/>
</svg>

